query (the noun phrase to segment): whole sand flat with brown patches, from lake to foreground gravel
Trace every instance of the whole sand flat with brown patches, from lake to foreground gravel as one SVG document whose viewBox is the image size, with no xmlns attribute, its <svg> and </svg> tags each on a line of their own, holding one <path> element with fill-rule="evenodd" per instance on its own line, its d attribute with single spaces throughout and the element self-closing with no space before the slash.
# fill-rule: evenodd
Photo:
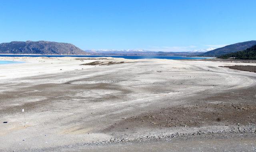
<svg viewBox="0 0 256 152">
<path fill-rule="evenodd" d="M 0 57 L 26 62 L 0 65 L 0 120 L 8 122 L 0 150 L 108 148 L 240 129 L 256 139 L 255 73 L 219 67 L 255 63 L 108 59 Z M 96 61 L 106 64 L 80 65 Z"/>
</svg>

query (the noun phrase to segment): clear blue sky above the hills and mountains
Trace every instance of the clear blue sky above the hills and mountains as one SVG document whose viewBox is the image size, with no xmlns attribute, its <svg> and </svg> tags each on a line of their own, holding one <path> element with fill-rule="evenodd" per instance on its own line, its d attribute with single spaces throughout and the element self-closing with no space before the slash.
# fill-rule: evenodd
<svg viewBox="0 0 256 152">
<path fill-rule="evenodd" d="M 186 51 L 256 40 L 256 0 L 0 0 L 0 43 Z"/>
</svg>

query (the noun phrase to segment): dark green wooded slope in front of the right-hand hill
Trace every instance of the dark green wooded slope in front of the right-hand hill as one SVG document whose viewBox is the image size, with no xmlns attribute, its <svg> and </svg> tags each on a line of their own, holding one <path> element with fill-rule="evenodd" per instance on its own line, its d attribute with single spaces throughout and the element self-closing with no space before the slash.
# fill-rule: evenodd
<svg viewBox="0 0 256 152">
<path fill-rule="evenodd" d="M 256 45 L 247 48 L 246 50 L 224 54 L 219 58 L 234 58 L 234 59 L 241 59 L 241 60 L 256 60 Z"/>
</svg>

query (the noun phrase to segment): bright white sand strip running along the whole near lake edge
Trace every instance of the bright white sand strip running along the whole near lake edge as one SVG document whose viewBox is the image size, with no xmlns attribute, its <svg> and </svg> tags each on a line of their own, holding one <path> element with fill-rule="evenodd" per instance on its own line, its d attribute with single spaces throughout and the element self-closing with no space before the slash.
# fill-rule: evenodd
<svg viewBox="0 0 256 152">
<path fill-rule="evenodd" d="M 11 79 L 20 78 L 26 76 L 37 76 L 42 74 L 56 74 L 61 72 L 82 70 L 86 68 L 93 68 L 94 66 L 80 66 L 80 64 L 94 62 L 97 60 L 75 60 L 78 57 L 61 57 L 61 58 L 46 58 L 46 57 L 0 57 L 0 60 L 10 60 L 10 61 L 21 61 L 24 63 L 20 64 L 0 64 L 1 73 L 0 79 Z M 102 58 L 102 57 L 98 57 Z M 110 57 L 108 57 L 110 59 Z M 177 68 L 184 68 L 184 66 L 189 64 L 209 64 L 204 61 L 177 61 L 177 60 L 167 60 L 167 59 L 140 59 L 140 60 L 128 60 L 123 58 L 115 58 L 115 61 L 125 61 L 125 62 L 147 62 L 147 61 L 158 61 L 158 62 L 173 62 L 179 63 L 176 65 Z M 210 63 L 213 66 L 223 66 L 223 65 L 238 65 L 236 63 Z M 240 63 L 239 65 L 255 65 L 253 63 Z M 60 70 L 61 69 L 61 70 Z"/>
</svg>

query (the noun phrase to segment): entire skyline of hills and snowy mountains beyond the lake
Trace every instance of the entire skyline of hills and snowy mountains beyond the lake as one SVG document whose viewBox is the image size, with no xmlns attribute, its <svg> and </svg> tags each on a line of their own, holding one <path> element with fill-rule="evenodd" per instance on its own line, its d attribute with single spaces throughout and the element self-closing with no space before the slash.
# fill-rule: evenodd
<svg viewBox="0 0 256 152">
<path fill-rule="evenodd" d="M 224 46 L 188 52 L 154 52 L 148 50 L 86 50 L 69 43 L 49 41 L 13 41 L 0 44 L 0 54 L 63 54 L 63 55 L 120 55 L 120 56 L 221 56 L 238 52 L 256 45 L 256 41 L 247 41 Z M 214 49 L 214 50 L 213 50 Z"/>
</svg>

